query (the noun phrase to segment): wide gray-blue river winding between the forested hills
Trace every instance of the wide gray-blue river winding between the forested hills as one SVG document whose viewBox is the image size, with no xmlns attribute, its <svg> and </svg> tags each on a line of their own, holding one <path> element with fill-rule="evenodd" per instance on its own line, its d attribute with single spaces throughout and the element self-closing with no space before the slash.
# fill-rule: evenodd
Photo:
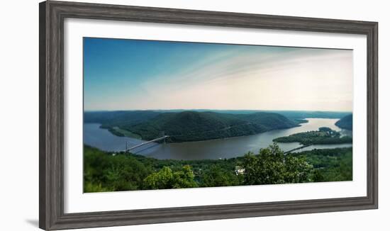
<svg viewBox="0 0 390 231">
<path fill-rule="evenodd" d="M 340 129 L 335 125 L 335 122 L 338 119 L 308 118 L 307 120 L 308 123 L 302 123 L 300 127 L 296 128 L 272 130 L 267 133 L 260 133 L 257 135 L 230 137 L 219 140 L 167 144 L 150 143 L 142 147 L 135 148 L 131 152 L 157 159 L 219 159 L 239 157 L 243 156 L 247 152 L 257 153 L 260 148 L 272 145 L 272 140 L 276 137 L 302 133 L 310 130 L 318 130 L 318 128 L 321 127 L 328 127 L 339 131 L 342 135 L 351 135 L 350 131 Z M 108 130 L 99 127 L 99 123 L 84 124 L 84 144 L 97 147 L 101 150 L 116 152 L 125 150 L 126 142 L 128 142 L 129 147 L 145 142 L 143 140 L 130 137 L 118 137 L 108 132 Z M 301 145 L 299 145 L 298 142 L 279 143 L 279 147 L 281 147 L 284 151 L 292 150 L 299 146 Z M 301 152 L 302 150 L 351 146 L 352 144 L 311 145 L 301 150 L 297 150 L 296 152 Z"/>
</svg>

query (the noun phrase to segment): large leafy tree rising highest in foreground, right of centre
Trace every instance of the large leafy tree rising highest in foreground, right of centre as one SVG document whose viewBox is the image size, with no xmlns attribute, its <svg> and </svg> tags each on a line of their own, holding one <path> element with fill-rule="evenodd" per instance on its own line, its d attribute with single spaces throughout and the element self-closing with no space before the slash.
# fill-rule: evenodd
<svg viewBox="0 0 390 231">
<path fill-rule="evenodd" d="M 305 159 L 284 155 L 276 143 L 261 149 L 258 155 L 245 154 L 243 168 L 247 185 L 307 182 L 313 171 Z"/>
</svg>

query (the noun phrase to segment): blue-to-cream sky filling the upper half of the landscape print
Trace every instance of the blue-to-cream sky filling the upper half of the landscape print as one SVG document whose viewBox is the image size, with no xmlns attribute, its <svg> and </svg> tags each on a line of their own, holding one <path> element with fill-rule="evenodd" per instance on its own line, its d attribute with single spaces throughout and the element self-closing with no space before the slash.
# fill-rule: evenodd
<svg viewBox="0 0 390 231">
<path fill-rule="evenodd" d="M 84 110 L 352 111 L 352 52 L 84 38 Z"/>
</svg>

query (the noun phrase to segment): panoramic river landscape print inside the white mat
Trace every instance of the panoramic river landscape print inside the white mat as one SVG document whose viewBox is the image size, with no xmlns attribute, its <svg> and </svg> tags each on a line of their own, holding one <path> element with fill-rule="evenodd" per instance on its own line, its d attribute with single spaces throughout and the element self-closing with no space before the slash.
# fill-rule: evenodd
<svg viewBox="0 0 390 231">
<path fill-rule="evenodd" d="M 84 193 L 352 181 L 353 50 L 83 48 Z"/>
</svg>

